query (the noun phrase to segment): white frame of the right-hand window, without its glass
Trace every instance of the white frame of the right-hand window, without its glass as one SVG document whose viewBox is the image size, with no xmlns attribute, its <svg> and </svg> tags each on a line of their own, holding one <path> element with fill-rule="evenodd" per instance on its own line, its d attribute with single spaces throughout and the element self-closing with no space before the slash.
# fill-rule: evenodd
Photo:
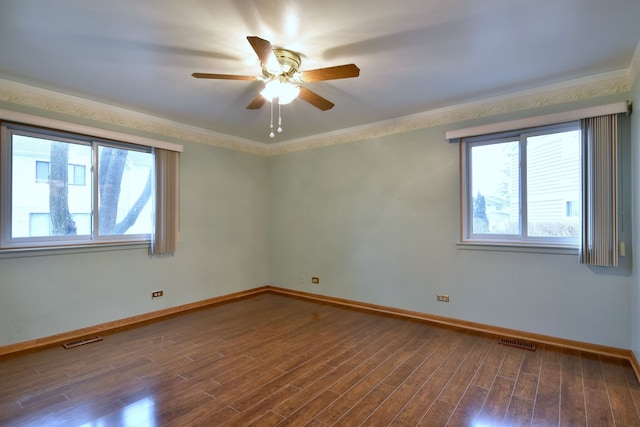
<svg viewBox="0 0 640 427">
<path fill-rule="evenodd" d="M 515 129 L 486 135 L 464 137 L 460 140 L 460 241 L 459 245 L 469 247 L 512 247 L 536 249 L 570 249 L 577 250 L 580 244 L 576 238 L 529 236 L 527 232 L 527 138 L 531 136 L 560 133 L 566 131 L 580 131 L 579 121 L 542 125 L 531 128 Z M 519 230 L 517 234 L 473 233 L 473 194 L 471 150 L 473 147 L 517 141 L 519 147 L 518 158 L 518 192 L 519 192 Z M 578 148 L 579 159 L 582 162 L 581 148 Z M 580 172 L 581 174 L 582 172 Z M 581 190 L 579 190 L 581 193 Z M 578 215 L 580 219 L 581 215 Z"/>
</svg>

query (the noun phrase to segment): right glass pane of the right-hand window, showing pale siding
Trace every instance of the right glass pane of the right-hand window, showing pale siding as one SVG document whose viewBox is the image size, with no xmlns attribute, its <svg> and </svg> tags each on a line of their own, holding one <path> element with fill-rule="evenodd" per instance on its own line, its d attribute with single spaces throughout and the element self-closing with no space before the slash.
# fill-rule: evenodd
<svg viewBox="0 0 640 427">
<path fill-rule="evenodd" d="M 580 131 L 527 138 L 527 234 L 578 238 Z"/>
</svg>

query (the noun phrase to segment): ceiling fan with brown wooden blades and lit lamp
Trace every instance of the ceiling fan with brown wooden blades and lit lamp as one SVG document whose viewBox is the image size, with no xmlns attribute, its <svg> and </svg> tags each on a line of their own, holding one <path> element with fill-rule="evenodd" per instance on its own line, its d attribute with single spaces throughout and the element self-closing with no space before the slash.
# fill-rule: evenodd
<svg viewBox="0 0 640 427">
<path fill-rule="evenodd" d="M 338 65 L 335 67 L 317 68 L 315 70 L 300 71 L 300 55 L 287 49 L 273 48 L 268 40 L 260 37 L 248 36 L 247 40 L 260 59 L 262 75 L 242 76 L 235 74 L 210 74 L 193 73 L 198 79 L 222 79 L 222 80 L 251 80 L 262 81 L 265 88 L 247 106 L 254 110 L 262 107 L 266 101 L 278 98 L 278 105 L 288 104 L 300 97 L 320 110 L 326 111 L 333 108 L 334 104 L 307 89 L 304 84 L 358 77 L 360 69 L 355 64 Z"/>
</svg>

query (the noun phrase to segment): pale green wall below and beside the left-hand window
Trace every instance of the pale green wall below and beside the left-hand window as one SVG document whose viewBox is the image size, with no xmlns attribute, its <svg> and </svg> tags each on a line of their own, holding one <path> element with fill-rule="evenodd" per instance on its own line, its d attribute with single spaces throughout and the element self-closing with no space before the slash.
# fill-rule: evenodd
<svg viewBox="0 0 640 427">
<path fill-rule="evenodd" d="M 0 259 L 0 345 L 268 282 L 268 158 L 185 143 L 175 256 L 147 249 Z M 164 297 L 151 300 L 151 291 Z"/>
</svg>

